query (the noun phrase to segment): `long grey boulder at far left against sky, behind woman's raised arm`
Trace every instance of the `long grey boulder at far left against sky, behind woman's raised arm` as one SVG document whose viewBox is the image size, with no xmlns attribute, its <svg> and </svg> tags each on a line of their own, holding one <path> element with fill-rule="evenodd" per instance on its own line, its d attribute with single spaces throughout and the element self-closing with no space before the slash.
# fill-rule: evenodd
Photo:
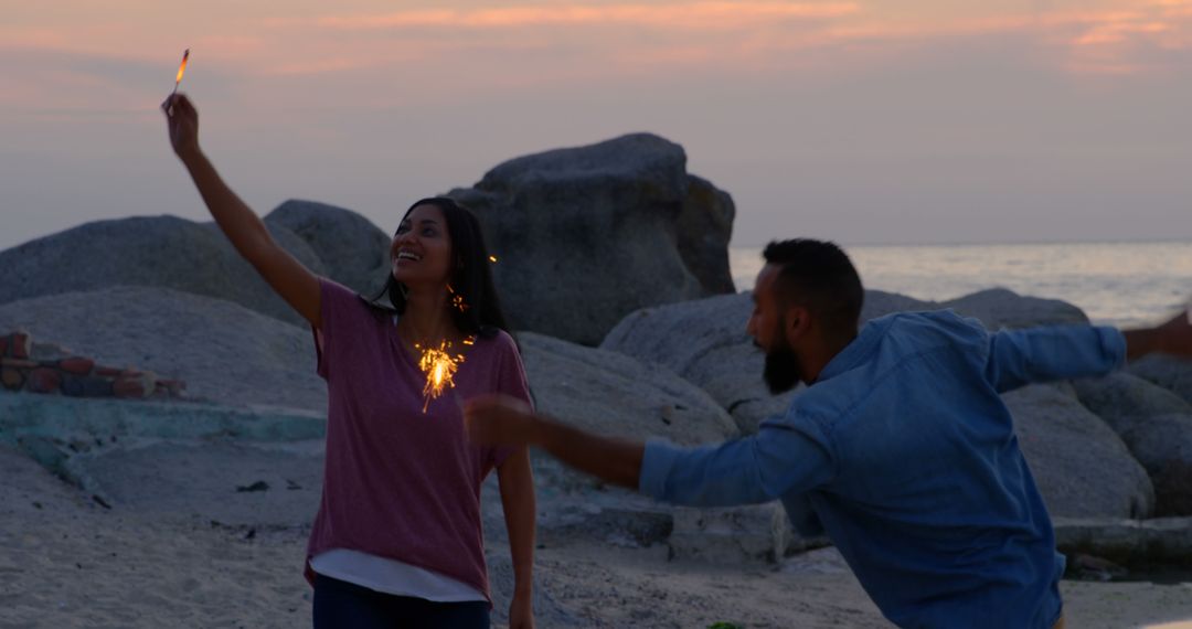
<svg viewBox="0 0 1192 629">
<path fill-rule="evenodd" d="M 299 262 L 325 274 L 305 241 L 283 225 L 269 231 Z M 178 217 L 87 223 L 0 253 L 0 304 L 119 285 L 159 286 L 302 322 L 215 224 Z"/>
</svg>

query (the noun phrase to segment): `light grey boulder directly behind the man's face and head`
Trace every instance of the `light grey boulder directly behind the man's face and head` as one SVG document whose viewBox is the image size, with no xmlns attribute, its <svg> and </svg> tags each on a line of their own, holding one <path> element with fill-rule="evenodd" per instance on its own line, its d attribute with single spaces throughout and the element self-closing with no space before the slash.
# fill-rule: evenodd
<svg viewBox="0 0 1192 629">
<path fill-rule="evenodd" d="M 865 292 L 862 320 L 932 304 L 881 291 Z M 752 294 L 712 297 L 639 310 L 621 320 L 602 349 L 664 366 L 707 391 L 745 434 L 790 405 L 797 393 L 774 396 L 762 380 L 763 354 L 745 332 Z"/>
</svg>

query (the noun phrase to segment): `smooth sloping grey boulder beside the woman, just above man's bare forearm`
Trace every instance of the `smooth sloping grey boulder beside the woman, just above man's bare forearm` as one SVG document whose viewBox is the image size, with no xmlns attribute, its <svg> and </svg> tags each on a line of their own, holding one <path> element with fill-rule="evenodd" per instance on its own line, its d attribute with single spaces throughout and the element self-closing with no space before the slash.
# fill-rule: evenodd
<svg viewBox="0 0 1192 629">
<path fill-rule="evenodd" d="M 533 332 L 517 336 L 538 409 L 584 430 L 694 446 L 737 435 L 715 400 L 669 369 Z"/>
</svg>

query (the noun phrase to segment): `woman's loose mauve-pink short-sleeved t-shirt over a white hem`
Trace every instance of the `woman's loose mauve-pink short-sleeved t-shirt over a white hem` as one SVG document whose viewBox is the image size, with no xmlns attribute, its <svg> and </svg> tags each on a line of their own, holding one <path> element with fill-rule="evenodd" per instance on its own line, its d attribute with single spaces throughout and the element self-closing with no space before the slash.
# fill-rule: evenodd
<svg viewBox="0 0 1192 629">
<path fill-rule="evenodd" d="M 468 442 L 461 404 L 497 392 L 529 401 L 517 345 L 499 332 L 461 348 L 455 387 L 423 413 L 426 375 L 391 314 L 334 281 L 319 285 L 327 462 L 308 578 L 310 558 L 347 548 L 435 571 L 489 597 L 480 484 L 513 449 Z"/>
</svg>

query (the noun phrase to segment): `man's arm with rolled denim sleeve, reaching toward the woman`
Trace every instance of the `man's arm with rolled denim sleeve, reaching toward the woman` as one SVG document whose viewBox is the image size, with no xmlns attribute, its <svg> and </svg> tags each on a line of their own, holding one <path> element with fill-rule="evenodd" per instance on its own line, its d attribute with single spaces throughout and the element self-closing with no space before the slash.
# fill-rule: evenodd
<svg viewBox="0 0 1192 629">
<path fill-rule="evenodd" d="M 581 472 L 673 504 L 764 503 L 818 485 L 832 471 L 827 453 L 794 430 L 772 428 L 714 446 L 678 448 L 586 432 L 505 397 L 476 399 L 465 416 L 474 442 L 534 446 Z"/>
</svg>

